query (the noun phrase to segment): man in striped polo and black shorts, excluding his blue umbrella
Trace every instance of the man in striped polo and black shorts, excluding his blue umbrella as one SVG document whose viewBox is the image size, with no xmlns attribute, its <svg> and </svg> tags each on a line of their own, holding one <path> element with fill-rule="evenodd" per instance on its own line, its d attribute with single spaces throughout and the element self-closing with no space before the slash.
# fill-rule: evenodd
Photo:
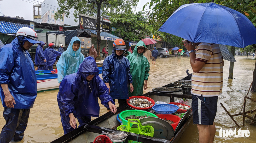
<svg viewBox="0 0 256 143">
<path fill-rule="evenodd" d="M 219 44 L 185 41 L 193 69 L 191 77 L 193 123 L 197 124 L 199 142 L 213 142 L 218 96 L 222 93 L 224 61 Z M 195 54 L 195 46 L 197 52 Z"/>
</svg>

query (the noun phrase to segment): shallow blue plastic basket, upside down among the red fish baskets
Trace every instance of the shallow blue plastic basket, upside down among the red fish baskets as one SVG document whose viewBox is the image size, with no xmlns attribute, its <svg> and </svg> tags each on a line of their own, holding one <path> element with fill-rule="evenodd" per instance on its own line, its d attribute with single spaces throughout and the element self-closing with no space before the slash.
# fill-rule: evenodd
<svg viewBox="0 0 256 143">
<path fill-rule="evenodd" d="M 152 109 L 156 113 L 172 114 L 172 113 L 175 113 L 179 109 L 179 106 L 173 105 L 173 104 L 158 104 L 158 105 L 154 105 L 152 107 Z"/>
</svg>

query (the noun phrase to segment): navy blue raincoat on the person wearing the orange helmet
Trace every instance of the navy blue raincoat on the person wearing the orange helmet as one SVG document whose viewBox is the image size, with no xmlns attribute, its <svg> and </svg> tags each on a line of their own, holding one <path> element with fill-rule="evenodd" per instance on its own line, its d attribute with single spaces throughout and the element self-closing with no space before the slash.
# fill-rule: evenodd
<svg viewBox="0 0 256 143">
<path fill-rule="evenodd" d="M 104 83 L 109 83 L 109 95 L 113 99 L 129 98 L 128 86 L 132 83 L 132 75 L 130 62 L 123 54 L 117 56 L 113 48 L 112 54 L 104 59 L 102 65 L 102 78 Z"/>
</svg>

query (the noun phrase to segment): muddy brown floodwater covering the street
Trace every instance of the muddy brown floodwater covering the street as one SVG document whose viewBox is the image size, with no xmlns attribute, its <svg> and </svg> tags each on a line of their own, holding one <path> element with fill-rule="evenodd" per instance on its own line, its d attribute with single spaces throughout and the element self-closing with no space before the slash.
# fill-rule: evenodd
<svg viewBox="0 0 256 143">
<path fill-rule="evenodd" d="M 236 56 L 234 63 L 234 75 L 233 79 L 228 79 L 229 74 L 229 62 L 224 60 L 223 67 L 223 92 L 218 98 L 218 110 L 215 118 L 216 133 L 214 142 L 255 142 L 256 140 L 256 126 L 245 123 L 245 126 L 241 130 L 248 130 L 250 132 L 249 137 L 220 137 L 219 130 L 239 130 L 239 128 L 230 128 L 236 126 L 232 119 L 221 107 L 222 103 L 231 114 L 237 114 L 241 110 L 244 96 L 246 96 L 249 86 L 253 79 L 253 70 L 255 67 L 255 60 L 252 56 Z M 189 73 L 192 73 L 189 58 L 183 59 L 178 57 L 157 58 L 155 66 L 151 66 L 149 71 L 148 89 L 144 90 L 146 93 L 152 88 L 164 86 L 173 81 L 179 80 L 185 76 L 186 70 L 189 69 Z M 57 93 L 59 89 L 38 92 L 34 107 L 30 110 L 30 117 L 28 120 L 28 126 L 25 131 L 25 135 L 21 142 L 51 142 L 63 135 L 63 129 L 60 120 L 59 107 L 57 105 Z M 256 93 L 249 91 L 248 97 L 256 99 Z M 178 100 L 178 99 L 176 99 Z M 99 102 L 100 103 L 100 102 Z M 101 104 L 100 104 L 101 105 Z M 116 102 L 116 105 L 118 103 Z M 256 104 L 253 101 L 247 100 L 246 111 L 256 108 Z M 100 115 L 106 113 L 105 107 L 101 106 Z M 0 107 L 0 113 L 3 113 L 3 107 Z M 253 113 L 254 115 L 255 113 Z M 252 114 L 248 114 L 252 116 Z M 95 118 L 92 118 L 95 119 Z M 240 126 L 242 126 L 242 116 L 234 117 Z M 246 118 L 247 119 L 247 118 Z M 3 116 L 0 115 L 0 127 L 5 124 Z M 193 121 L 190 122 L 188 128 L 182 135 L 179 143 L 192 143 L 199 142 L 198 130 Z"/>
</svg>

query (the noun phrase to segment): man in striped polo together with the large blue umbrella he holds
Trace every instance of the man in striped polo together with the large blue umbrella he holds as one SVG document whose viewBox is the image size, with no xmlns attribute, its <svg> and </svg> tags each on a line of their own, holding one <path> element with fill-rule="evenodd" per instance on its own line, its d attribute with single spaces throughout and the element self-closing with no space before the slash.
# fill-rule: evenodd
<svg viewBox="0 0 256 143">
<path fill-rule="evenodd" d="M 184 46 L 189 51 L 193 69 L 193 122 L 199 130 L 199 142 L 211 143 L 216 132 L 214 118 L 223 81 L 224 62 L 218 44 L 241 48 L 256 44 L 256 29 L 242 13 L 212 0 L 182 5 L 158 31 L 187 39 Z M 198 46 L 196 55 L 195 46 Z"/>
</svg>

